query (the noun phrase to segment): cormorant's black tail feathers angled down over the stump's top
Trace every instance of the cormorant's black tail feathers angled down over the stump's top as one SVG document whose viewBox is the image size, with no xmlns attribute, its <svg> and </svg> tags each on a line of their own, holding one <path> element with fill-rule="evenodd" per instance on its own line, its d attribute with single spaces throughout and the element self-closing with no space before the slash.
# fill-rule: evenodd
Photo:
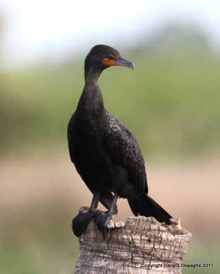
<svg viewBox="0 0 220 274">
<path fill-rule="evenodd" d="M 143 193 L 134 199 L 127 199 L 127 201 L 135 216 L 138 216 L 138 214 L 145 217 L 151 216 L 160 223 L 171 224 L 170 219 L 172 216 L 147 194 Z"/>
</svg>

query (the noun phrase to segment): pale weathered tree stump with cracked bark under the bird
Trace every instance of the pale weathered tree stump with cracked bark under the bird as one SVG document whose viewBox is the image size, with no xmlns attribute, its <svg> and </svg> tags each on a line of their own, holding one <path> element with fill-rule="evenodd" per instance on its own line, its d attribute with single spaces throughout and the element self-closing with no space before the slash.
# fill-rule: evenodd
<svg viewBox="0 0 220 274">
<path fill-rule="evenodd" d="M 75 274 L 179 274 L 192 234 L 182 229 L 180 218 L 171 225 L 153 217 L 130 216 L 125 223 L 108 225 L 107 240 L 94 221 L 79 238 L 80 258 Z"/>
</svg>

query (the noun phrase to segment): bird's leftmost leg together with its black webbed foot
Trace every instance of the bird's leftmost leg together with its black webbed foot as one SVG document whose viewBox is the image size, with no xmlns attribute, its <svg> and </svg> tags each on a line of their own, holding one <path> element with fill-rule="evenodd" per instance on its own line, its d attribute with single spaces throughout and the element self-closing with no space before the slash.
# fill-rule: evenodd
<svg viewBox="0 0 220 274">
<path fill-rule="evenodd" d="M 80 237 L 80 235 L 86 231 L 90 221 L 93 219 L 100 197 L 101 197 L 101 192 L 98 192 L 98 191 L 93 192 L 93 200 L 88 212 L 80 212 L 73 219 L 72 229 L 75 236 Z"/>
</svg>

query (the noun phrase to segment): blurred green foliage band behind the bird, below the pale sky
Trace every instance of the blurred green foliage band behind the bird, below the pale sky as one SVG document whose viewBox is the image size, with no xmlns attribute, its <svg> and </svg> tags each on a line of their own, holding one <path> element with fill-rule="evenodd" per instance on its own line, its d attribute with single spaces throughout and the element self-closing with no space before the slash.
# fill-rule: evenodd
<svg viewBox="0 0 220 274">
<path fill-rule="evenodd" d="M 176 32 L 182 39 L 170 45 Z M 106 108 L 130 128 L 144 153 L 195 155 L 219 146 L 219 58 L 201 34 L 181 33 L 166 29 L 148 44 L 121 49 L 134 72 L 114 67 L 99 80 Z M 83 66 L 81 59 L 1 71 L 1 151 L 66 144 Z"/>
</svg>

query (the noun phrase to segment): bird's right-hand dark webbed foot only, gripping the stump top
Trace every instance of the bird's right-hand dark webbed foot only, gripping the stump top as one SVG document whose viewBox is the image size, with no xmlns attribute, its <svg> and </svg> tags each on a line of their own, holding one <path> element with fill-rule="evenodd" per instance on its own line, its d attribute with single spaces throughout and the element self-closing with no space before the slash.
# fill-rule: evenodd
<svg viewBox="0 0 220 274">
<path fill-rule="evenodd" d="M 103 239 L 106 240 L 106 232 L 108 229 L 108 223 L 112 219 L 113 214 L 111 212 L 102 212 L 97 210 L 94 214 L 94 221 L 97 227 L 102 232 Z"/>
</svg>

